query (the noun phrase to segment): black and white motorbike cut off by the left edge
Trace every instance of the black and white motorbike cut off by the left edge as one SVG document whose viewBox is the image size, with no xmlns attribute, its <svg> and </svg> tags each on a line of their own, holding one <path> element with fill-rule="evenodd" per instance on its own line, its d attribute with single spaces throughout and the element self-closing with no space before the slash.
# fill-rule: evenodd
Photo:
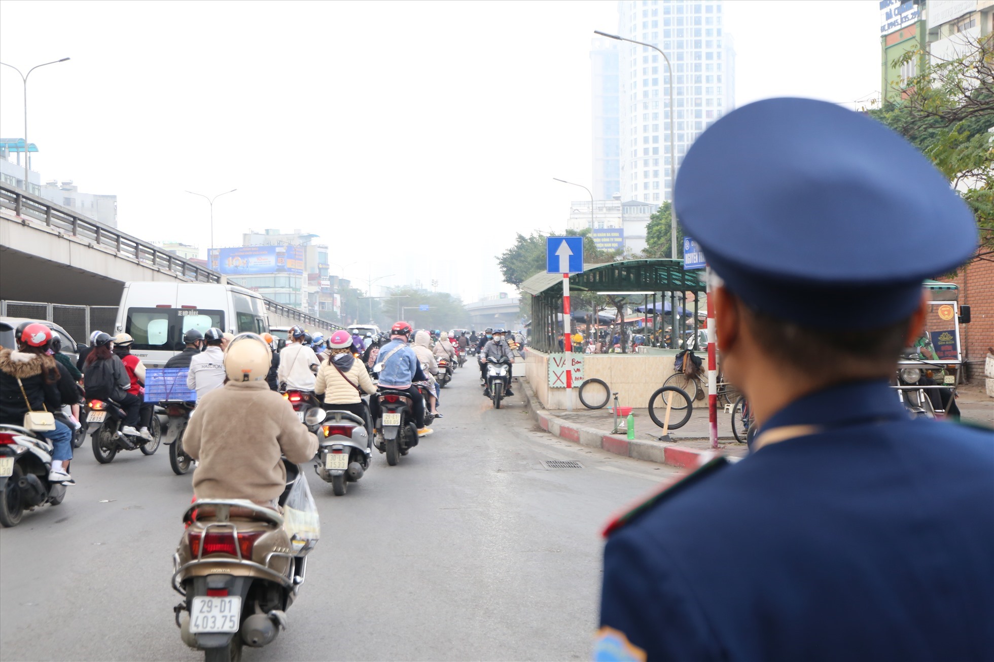
<svg viewBox="0 0 994 662">
<path fill-rule="evenodd" d="M 24 511 L 58 506 L 66 486 L 50 483 L 51 441 L 20 425 L 0 425 L 0 525 L 16 527 Z"/>
</svg>

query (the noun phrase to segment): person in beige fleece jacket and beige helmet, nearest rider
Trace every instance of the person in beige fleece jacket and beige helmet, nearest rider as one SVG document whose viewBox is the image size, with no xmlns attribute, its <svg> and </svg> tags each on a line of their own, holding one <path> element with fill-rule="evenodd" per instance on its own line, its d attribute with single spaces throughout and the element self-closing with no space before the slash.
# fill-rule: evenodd
<svg viewBox="0 0 994 662">
<path fill-rule="evenodd" d="M 278 510 L 286 467 L 317 452 L 317 436 L 265 383 L 270 349 L 254 333 L 235 336 L 223 362 L 228 382 L 197 402 L 183 433 L 183 450 L 199 461 L 197 499 L 248 499 Z"/>
</svg>

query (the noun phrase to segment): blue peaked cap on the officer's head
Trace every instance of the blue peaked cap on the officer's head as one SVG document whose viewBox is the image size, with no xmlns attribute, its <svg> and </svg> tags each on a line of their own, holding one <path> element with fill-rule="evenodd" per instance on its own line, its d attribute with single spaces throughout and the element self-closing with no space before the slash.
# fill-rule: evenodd
<svg viewBox="0 0 994 662">
<path fill-rule="evenodd" d="M 970 258 L 973 214 L 903 137 L 834 103 L 770 98 L 719 119 L 677 175 L 677 216 L 746 304 L 812 328 L 911 315 Z"/>
</svg>

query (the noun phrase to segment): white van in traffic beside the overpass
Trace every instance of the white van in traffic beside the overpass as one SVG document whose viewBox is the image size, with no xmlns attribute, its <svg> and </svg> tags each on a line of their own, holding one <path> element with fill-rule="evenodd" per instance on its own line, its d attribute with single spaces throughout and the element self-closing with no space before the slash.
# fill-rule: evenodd
<svg viewBox="0 0 994 662">
<path fill-rule="evenodd" d="M 131 353 L 149 368 L 161 368 L 183 351 L 183 335 L 212 326 L 227 333 L 269 329 L 265 300 L 238 285 L 132 281 L 124 283 L 116 333 L 134 338 Z"/>
</svg>

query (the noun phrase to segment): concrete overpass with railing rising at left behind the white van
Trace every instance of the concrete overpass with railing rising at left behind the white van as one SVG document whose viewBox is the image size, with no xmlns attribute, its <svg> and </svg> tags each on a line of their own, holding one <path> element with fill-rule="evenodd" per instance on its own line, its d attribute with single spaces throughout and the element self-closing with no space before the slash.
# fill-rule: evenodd
<svg viewBox="0 0 994 662">
<path fill-rule="evenodd" d="M 117 306 L 129 280 L 226 282 L 224 275 L 0 183 L 0 299 Z M 265 300 L 269 324 L 340 328 Z"/>
</svg>

